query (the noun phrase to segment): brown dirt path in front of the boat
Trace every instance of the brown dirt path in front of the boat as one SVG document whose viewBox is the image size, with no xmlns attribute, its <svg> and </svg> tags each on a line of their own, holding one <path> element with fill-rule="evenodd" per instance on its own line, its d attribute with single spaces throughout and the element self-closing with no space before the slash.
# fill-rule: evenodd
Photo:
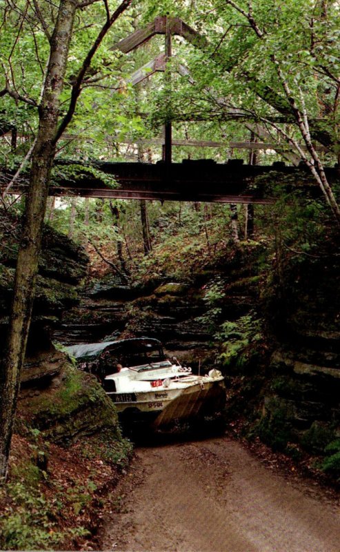
<svg viewBox="0 0 340 552">
<path fill-rule="evenodd" d="M 102 550 L 339 552 L 340 506 L 228 437 L 137 450 Z"/>
</svg>

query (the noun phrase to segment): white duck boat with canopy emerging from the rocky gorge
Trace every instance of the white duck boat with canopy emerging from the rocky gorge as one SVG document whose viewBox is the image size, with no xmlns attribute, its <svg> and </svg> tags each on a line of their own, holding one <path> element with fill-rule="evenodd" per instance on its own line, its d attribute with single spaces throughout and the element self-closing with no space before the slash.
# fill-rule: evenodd
<svg viewBox="0 0 340 552">
<path fill-rule="evenodd" d="M 175 357 L 166 358 L 158 339 L 120 339 L 67 349 L 81 368 L 99 375 L 124 419 L 148 420 L 158 427 L 212 415 L 226 402 L 220 371 L 212 368 L 206 375 L 193 374 Z"/>
</svg>

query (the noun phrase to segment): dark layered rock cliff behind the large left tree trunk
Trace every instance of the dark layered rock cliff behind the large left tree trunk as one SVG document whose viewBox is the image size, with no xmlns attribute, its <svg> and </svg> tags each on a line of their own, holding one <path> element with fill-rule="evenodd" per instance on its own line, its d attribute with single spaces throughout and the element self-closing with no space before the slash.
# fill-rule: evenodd
<svg viewBox="0 0 340 552">
<path fill-rule="evenodd" d="M 9 213 L 1 211 L 0 215 L 0 346 L 3 350 L 21 222 Z M 61 369 L 63 355 L 52 345 L 52 331 L 59 324 L 61 313 L 77 304 L 77 285 L 86 275 L 87 264 L 88 257 L 83 248 L 46 226 L 22 375 L 24 384 L 57 375 Z"/>
</svg>

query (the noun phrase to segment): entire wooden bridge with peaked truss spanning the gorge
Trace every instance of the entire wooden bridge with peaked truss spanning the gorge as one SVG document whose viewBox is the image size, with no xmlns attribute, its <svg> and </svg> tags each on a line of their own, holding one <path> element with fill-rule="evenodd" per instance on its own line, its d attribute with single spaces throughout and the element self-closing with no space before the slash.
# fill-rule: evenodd
<svg viewBox="0 0 340 552">
<path fill-rule="evenodd" d="M 204 49 L 207 47 L 206 38 L 190 28 L 181 19 L 164 16 L 156 17 L 146 28 L 136 30 L 126 39 L 112 46 L 112 50 L 128 53 L 139 48 L 155 34 L 165 36 L 165 53 L 135 71 L 129 80 L 132 85 L 151 77 L 155 72 L 163 71 L 166 73 L 168 61 L 172 55 L 172 35 L 177 34 L 198 48 Z M 193 82 L 188 68 L 179 64 L 179 72 L 181 75 L 189 77 L 190 82 Z M 170 78 L 169 73 L 166 75 L 167 78 Z M 210 92 L 213 93 L 212 90 Z M 233 109 L 229 115 L 242 121 L 246 119 L 246 114 L 242 110 Z M 257 139 L 264 139 L 267 142 L 270 138 L 266 129 L 259 126 L 259 124 L 245 124 L 246 128 Z M 3 130 L 4 132 L 8 131 L 6 128 Z M 111 163 L 106 161 L 79 164 L 77 160 L 63 161 L 57 159 L 55 166 L 65 167 L 75 164 L 77 169 L 72 177 L 63 176 L 61 170 L 61 177 L 57 178 L 58 185 L 52 183 L 50 186 L 50 195 L 60 197 L 76 195 L 118 199 L 158 199 L 160 201 L 219 201 L 230 204 L 270 204 L 275 200 L 278 188 L 286 193 L 301 189 L 309 197 L 319 197 L 321 194 L 310 170 L 306 165 L 301 165 L 300 158 L 296 153 L 287 150 L 288 144 L 259 144 L 252 141 L 250 143 L 229 145 L 230 148 L 276 150 L 281 157 L 288 159 L 288 162 L 292 164 L 292 166 L 286 166 L 282 161 L 277 161 L 272 166 L 261 166 L 257 164 L 243 165 L 239 159 L 232 159 L 226 164 L 217 164 L 212 159 L 185 160 L 182 163 L 172 163 L 172 146 L 226 147 L 226 144 L 208 141 L 173 140 L 171 121 L 164 124 L 163 139 L 153 139 L 149 142 L 162 146 L 163 161 L 159 161 L 157 164 Z M 320 144 L 317 144 L 316 147 L 321 151 L 328 150 Z M 252 156 L 250 155 L 250 157 Z M 93 168 L 96 170 L 93 171 Z M 101 177 L 101 173 L 113 177 L 112 185 L 107 184 L 108 179 Z M 26 191 L 25 179 L 21 179 L 21 181 L 17 179 L 13 185 L 8 186 L 12 176 L 0 170 L 0 193 L 18 194 Z M 326 176 L 330 184 L 339 183 L 339 168 L 326 169 Z"/>
</svg>

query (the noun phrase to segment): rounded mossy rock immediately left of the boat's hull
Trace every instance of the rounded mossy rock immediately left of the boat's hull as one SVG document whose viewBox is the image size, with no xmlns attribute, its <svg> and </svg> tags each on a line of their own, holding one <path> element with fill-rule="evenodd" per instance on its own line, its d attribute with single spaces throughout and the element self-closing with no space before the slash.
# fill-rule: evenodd
<svg viewBox="0 0 340 552">
<path fill-rule="evenodd" d="M 21 400 L 19 412 L 47 440 L 59 444 L 106 428 L 112 428 L 117 438 L 121 436 L 116 408 L 96 378 L 70 365 L 59 375 L 57 386 Z"/>
</svg>

